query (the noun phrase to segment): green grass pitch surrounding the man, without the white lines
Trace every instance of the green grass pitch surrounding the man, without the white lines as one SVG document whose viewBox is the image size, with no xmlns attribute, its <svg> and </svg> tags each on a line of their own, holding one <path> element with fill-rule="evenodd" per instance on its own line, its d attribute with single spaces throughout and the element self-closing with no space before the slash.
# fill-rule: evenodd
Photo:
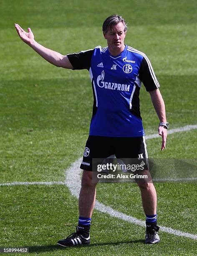
<svg viewBox="0 0 197 256">
<path fill-rule="evenodd" d="M 144 51 L 161 84 L 170 128 L 197 124 L 197 20 L 193 0 L 1 0 L 0 183 L 64 181 L 83 154 L 92 112 L 86 70 L 57 68 L 18 37 L 14 23 L 62 54 L 106 46 L 101 26 L 114 13 L 128 22 L 127 45 Z M 142 87 L 146 134 L 158 118 Z M 197 130 L 147 140 L 149 157 L 195 159 Z M 159 225 L 197 234 L 194 183 L 157 183 Z M 97 199 L 144 220 L 136 184 L 98 184 Z M 62 249 L 56 242 L 75 229 L 78 201 L 65 185 L 0 186 L 0 247 L 29 247 L 31 255 L 196 255 L 196 240 L 160 232 L 145 245 L 144 228 L 93 212 L 91 246 Z M 14 255 L 14 254 L 12 254 Z M 19 255 L 19 254 L 17 254 Z"/>
</svg>

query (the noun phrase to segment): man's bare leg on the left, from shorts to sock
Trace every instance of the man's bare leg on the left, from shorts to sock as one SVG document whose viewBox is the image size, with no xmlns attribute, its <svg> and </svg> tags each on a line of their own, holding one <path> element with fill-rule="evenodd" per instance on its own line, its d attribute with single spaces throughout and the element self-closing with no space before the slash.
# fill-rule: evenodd
<svg viewBox="0 0 197 256">
<path fill-rule="evenodd" d="M 79 194 L 79 215 L 91 218 L 96 200 L 96 184 L 92 183 L 92 172 L 83 171 L 81 191 Z"/>
</svg>

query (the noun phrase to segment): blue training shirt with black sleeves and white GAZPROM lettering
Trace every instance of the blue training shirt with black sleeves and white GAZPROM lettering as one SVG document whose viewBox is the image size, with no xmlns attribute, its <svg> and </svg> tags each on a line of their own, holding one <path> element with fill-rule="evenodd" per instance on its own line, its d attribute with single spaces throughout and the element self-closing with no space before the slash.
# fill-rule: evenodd
<svg viewBox="0 0 197 256">
<path fill-rule="evenodd" d="M 92 136 L 144 136 L 140 109 L 141 82 L 146 91 L 160 87 L 147 56 L 130 46 L 117 56 L 108 47 L 68 54 L 73 69 L 88 69 L 93 88 Z"/>
</svg>

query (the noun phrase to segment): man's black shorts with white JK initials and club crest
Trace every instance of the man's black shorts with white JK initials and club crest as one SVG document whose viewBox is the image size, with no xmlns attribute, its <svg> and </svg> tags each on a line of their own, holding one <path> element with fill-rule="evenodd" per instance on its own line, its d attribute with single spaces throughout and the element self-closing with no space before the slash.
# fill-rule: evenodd
<svg viewBox="0 0 197 256">
<path fill-rule="evenodd" d="M 147 159 L 145 137 L 89 136 L 80 168 L 92 171 L 92 159 L 116 158 Z"/>
</svg>

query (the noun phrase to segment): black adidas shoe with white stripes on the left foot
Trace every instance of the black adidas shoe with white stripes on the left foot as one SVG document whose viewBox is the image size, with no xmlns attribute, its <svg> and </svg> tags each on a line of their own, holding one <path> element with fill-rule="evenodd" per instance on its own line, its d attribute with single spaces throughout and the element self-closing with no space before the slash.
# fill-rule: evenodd
<svg viewBox="0 0 197 256">
<path fill-rule="evenodd" d="M 57 244 L 63 247 L 89 245 L 90 235 L 88 238 L 85 238 L 78 232 L 78 228 L 76 228 L 76 232 L 72 233 L 67 238 L 58 241 Z"/>
</svg>

